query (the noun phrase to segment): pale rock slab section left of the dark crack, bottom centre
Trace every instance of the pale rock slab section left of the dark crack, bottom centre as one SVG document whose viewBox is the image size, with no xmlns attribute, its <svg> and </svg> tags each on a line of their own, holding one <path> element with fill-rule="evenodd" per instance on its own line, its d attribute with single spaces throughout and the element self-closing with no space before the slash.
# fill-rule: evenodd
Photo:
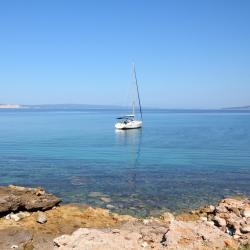
<svg viewBox="0 0 250 250">
<path fill-rule="evenodd" d="M 72 235 L 63 235 L 54 240 L 58 250 L 142 250 L 165 249 L 162 236 L 168 227 L 157 219 L 146 224 L 142 221 L 128 222 L 114 229 L 80 228 Z"/>
</svg>

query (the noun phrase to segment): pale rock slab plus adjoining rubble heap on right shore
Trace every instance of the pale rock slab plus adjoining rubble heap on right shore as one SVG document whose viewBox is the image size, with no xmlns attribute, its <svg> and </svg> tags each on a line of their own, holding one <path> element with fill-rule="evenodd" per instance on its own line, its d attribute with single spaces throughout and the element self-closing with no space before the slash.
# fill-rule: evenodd
<svg viewBox="0 0 250 250">
<path fill-rule="evenodd" d="M 250 202 L 224 199 L 187 214 L 166 212 L 160 219 L 129 222 L 119 229 L 78 229 L 54 240 L 55 250 L 69 249 L 238 249 L 250 243 Z"/>
</svg>

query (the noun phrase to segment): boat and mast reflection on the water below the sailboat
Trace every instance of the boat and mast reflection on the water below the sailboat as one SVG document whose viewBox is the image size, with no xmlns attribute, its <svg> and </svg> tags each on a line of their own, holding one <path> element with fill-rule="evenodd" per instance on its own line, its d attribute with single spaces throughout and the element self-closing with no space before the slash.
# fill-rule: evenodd
<svg viewBox="0 0 250 250">
<path fill-rule="evenodd" d="M 116 142 L 119 146 L 125 148 L 129 154 L 126 165 L 126 182 L 127 193 L 136 194 L 137 172 L 139 167 L 139 159 L 141 154 L 142 130 L 115 130 Z"/>
</svg>

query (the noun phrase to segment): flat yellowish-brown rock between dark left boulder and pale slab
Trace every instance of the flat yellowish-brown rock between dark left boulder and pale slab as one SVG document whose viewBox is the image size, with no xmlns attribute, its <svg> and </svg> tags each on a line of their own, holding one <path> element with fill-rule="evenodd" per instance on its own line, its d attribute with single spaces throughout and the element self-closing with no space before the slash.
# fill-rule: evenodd
<svg viewBox="0 0 250 250">
<path fill-rule="evenodd" d="M 51 250 L 54 238 L 71 234 L 78 228 L 113 228 L 135 220 L 129 215 L 110 213 L 107 209 L 72 204 L 57 206 L 44 212 L 11 213 L 0 218 L 0 250 L 9 250 L 9 246 L 13 246 L 13 249 L 18 246 L 17 249 L 21 250 Z M 20 239 L 18 236 L 26 233 L 32 235 L 32 239 Z M 19 238 L 16 239 L 15 235 Z"/>
</svg>

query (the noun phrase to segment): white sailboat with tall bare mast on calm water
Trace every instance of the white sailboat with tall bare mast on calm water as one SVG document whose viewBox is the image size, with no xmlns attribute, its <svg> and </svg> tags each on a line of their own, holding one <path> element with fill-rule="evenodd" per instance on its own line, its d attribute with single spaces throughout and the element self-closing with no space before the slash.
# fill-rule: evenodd
<svg viewBox="0 0 250 250">
<path fill-rule="evenodd" d="M 140 100 L 139 87 L 138 87 L 138 81 L 137 81 L 137 76 L 136 76 L 134 64 L 133 64 L 133 76 L 134 76 L 134 82 L 135 82 L 136 91 L 137 91 L 137 98 L 138 98 L 138 103 L 139 103 L 139 108 L 140 108 L 140 118 L 141 119 L 136 118 L 135 101 L 133 101 L 132 102 L 132 114 L 118 117 L 117 118 L 118 121 L 115 124 L 116 129 L 138 129 L 138 128 L 142 127 L 141 100 Z"/>
</svg>

